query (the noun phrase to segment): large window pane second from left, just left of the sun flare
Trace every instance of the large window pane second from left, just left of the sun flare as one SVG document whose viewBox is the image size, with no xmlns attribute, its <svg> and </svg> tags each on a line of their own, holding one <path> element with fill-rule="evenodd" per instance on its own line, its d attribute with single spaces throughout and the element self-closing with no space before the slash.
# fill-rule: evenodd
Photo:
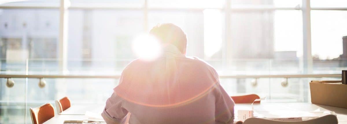
<svg viewBox="0 0 347 124">
<path fill-rule="evenodd" d="M 70 74 L 120 74 L 136 58 L 132 41 L 144 32 L 138 10 L 70 9 Z"/>
</svg>

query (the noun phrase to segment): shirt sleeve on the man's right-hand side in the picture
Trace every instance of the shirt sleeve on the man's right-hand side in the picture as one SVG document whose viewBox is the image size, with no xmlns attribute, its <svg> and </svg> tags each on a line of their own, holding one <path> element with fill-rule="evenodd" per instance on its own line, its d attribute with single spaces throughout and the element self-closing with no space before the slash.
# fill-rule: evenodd
<svg viewBox="0 0 347 124">
<path fill-rule="evenodd" d="M 231 97 L 227 94 L 224 88 L 219 84 L 219 77 L 217 75 L 218 82 L 216 83 L 215 95 L 215 122 L 216 124 L 232 124 L 234 123 L 234 106 L 235 103 Z"/>
</svg>

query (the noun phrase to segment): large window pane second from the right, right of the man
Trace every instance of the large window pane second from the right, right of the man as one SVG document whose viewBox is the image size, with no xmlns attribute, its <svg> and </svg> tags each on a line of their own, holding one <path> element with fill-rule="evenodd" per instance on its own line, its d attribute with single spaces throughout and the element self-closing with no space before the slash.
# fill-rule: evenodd
<svg viewBox="0 0 347 124">
<path fill-rule="evenodd" d="M 231 65 L 227 66 L 229 73 L 298 74 L 301 72 L 298 61 L 302 56 L 300 11 L 235 11 L 231 12 L 230 18 L 231 40 L 227 41 L 229 42 L 227 48 L 231 50 L 226 53 L 230 56 L 228 59 L 232 61 Z M 279 62 L 286 66 L 278 65 Z"/>
</svg>

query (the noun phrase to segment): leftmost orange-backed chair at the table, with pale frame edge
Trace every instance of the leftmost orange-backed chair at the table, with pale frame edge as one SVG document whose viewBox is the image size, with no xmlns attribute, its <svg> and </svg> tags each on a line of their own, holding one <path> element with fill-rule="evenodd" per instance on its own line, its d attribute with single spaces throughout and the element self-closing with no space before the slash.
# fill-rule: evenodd
<svg viewBox="0 0 347 124">
<path fill-rule="evenodd" d="M 33 124 L 43 124 L 54 117 L 53 105 L 46 103 L 37 108 L 30 108 L 30 116 Z"/>
</svg>

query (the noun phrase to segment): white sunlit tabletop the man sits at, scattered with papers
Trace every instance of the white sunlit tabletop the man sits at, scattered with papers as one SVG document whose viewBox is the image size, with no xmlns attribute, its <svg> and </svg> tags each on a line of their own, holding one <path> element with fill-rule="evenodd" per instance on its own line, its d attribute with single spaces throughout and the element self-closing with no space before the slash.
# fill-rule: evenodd
<svg viewBox="0 0 347 124">
<path fill-rule="evenodd" d="M 78 107 L 71 106 L 69 111 L 56 115 L 48 120 L 45 124 L 62 124 L 65 120 L 87 120 L 84 114 L 86 111 L 101 113 L 104 105 L 79 105 Z M 250 108 L 251 104 L 235 104 L 235 117 L 237 117 L 237 109 Z M 100 109 L 99 109 L 100 108 Z M 311 103 L 281 103 L 281 102 L 262 102 L 261 104 L 254 104 L 255 112 L 266 116 L 276 116 L 276 114 L 269 113 L 272 111 L 333 111 L 337 114 L 339 124 L 347 124 L 347 108 L 339 108 L 325 105 L 316 105 Z"/>
</svg>

